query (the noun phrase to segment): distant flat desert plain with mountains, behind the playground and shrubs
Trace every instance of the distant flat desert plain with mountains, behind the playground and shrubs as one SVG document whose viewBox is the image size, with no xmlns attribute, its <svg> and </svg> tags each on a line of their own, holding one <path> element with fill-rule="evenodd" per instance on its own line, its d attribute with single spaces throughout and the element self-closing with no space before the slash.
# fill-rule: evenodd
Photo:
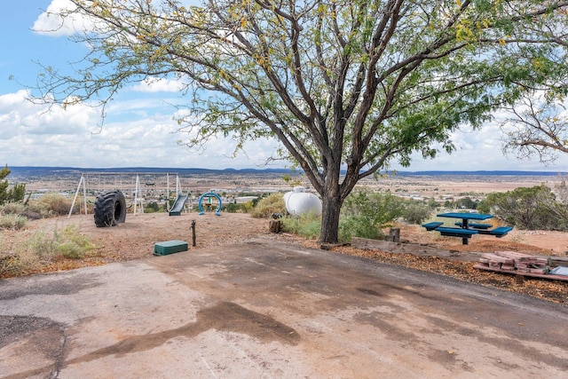
<svg viewBox="0 0 568 379">
<path fill-rule="evenodd" d="M 312 186 L 302 172 L 287 169 L 207 170 L 176 168 L 9 167 L 11 183 L 24 183 L 33 197 L 43 193 L 95 197 L 111 189 L 127 198 L 163 202 L 176 193 L 218 193 L 227 201 L 248 201 L 265 193 L 288 192 L 294 186 Z M 483 200 L 487 193 L 510 191 L 521 186 L 555 186 L 568 172 L 547 171 L 397 171 L 365 178 L 359 188 L 389 190 L 417 201 L 438 202 L 470 197 Z"/>
</svg>

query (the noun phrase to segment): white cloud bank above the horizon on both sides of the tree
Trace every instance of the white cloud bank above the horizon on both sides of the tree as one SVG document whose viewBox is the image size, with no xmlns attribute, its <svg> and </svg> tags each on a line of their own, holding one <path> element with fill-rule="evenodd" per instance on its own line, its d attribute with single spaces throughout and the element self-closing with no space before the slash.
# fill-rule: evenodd
<svg viewBox="0 0 568 379">
<path fill-rule="evenodd" d="M 48 108 L 28 101 L 28 91 L 0 95 L 0 151 L 11 166 L 75 166 L 244 169 L 264 168 L 279 144 L 270 139 L 248 142 L 245 153 L 233 155 L 235 141 L 218 137 L 196 153 L 177 141 L 188 135 L 177 132 L 174 114 L 159 100 L 115 100 L 99 129 L 99 110 L 84 105 Z M 397 170 L 567 170 L 568 156 L 555 165 L 519 161 L 501 152 L 499 122 L 488 122 L 481 130 L 453 134 L 454 154 L 441 152 L 435 160 L 414 154 L 407 169 Z M 285 162 L 277 162 L 283 167 Z M 274 166 L 271 166 L 274 167 Z"/>
</svg>

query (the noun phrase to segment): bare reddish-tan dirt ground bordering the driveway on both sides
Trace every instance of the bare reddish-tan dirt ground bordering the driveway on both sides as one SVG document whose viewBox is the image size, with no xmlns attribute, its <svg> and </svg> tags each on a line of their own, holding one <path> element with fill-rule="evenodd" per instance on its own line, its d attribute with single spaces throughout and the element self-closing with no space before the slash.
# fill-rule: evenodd
<svg viewBox="0 0 568 379">
<path fill-rule="evenodd" d="M 196 246 L 193 247 L 192 221 L 195 221 Z M 167 213 L 129 214 L 126 222 L 114 227 L 98 228 L 92 215 L 74 215 L 30 221 L 23 232 L 4 231 L 4 239 L 26 238 L 35 230 L 50 233 L 67 225 L 75 225 L 79 231 L 90 237 L 97 246 L 89 257 L 83 260 L 64 259 L 52 262 L 41 272 L 74 269 L 83 266 L 105 265 L 151 257 L 154 244 L 160 241 L 187 241 L 189 249 L 221 246 L 268 232 L 269 220 L 250 217 L 248 214 L 213 213 L 198 215 L 183 213 L 170 217 Z M 401 241 L 420 243 L 441 249 L 469 252 L 493 252 L 512 250 L 525 254 L 543 256 L 565 256 L 568 251 L 568 233 L 514 230 L 502 239 L 477 235 L 469 245 L 461 245 L 461 239 L 440 237 L 438 233 L 428 233 L 418 225 L 399 225 Z M 316 241 L 305 241 L 283 233 L 279 239 L 290 243 L 317 246 Z M 381 251 L 353 249 L 349 246 L 337 247 L 337 253 L 367 257 L 376 262 L 404 265 L 417 270 L 438 272 L 459 280 L 481 283 L 486 286 L 504 288 L 509 291 L 525 293 L 561 304 L 568 304 L 568 282 L 556 280 L 525 280 L 518 283 L 513 275 L 482 272 L 473 268 L 473 262 L 458 262 L 439 257 L 418 257 L 412 254 L 391 254 Z M 37 273 L 37 272 L 28 272 Z"/>
</svg>

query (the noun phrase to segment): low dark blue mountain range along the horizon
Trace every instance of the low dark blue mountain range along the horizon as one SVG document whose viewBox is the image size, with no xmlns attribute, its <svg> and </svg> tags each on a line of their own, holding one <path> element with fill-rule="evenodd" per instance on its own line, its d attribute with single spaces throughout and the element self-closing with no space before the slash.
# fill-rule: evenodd
<svg viewBox="0 0 568 379">
<path fill-rule="evenodd" d="M 261 175 L 261 174 L 295 174 L 296 170 L 290 169 L 225 169 L 225 170 L 211 170 L 211 169 L 179 169 L 179 168 L 154 168 L 154 167 L 121 167 L 121 168 L 106 168 L 106 169 L 82 169 L 76 167 L 35 167 L 35 166 L 9 166 L 12 175 L 20 177 L 43 177 L 52 175 L 79 175 L 81 173 L 110 173 L 110 172 L 124 172 L 124 173 L 176 173 L 180 175 L 198 175 L 198 174 L 239 174 L 239 175 Z M 389 173 L 393 173 L 390 171 Z M 556 177 L 566 176 L 567 171 L 515 171 L 515 170 L 494 170 L 494 171 L 396 171 L 400 176 L 514 176 L 514 177 Z"/>
</svg>

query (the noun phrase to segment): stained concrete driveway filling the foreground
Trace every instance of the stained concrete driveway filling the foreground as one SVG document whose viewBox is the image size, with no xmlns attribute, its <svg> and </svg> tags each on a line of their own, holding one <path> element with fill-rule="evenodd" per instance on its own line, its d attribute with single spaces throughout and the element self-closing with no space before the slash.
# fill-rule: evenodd
<svg viewBox="0 0 568 379">
<path fill-rule="evenodd" d="M 266 236 L 0 281 L 4 378 L 568 377 L 568 308 Z"/>
</svg>

